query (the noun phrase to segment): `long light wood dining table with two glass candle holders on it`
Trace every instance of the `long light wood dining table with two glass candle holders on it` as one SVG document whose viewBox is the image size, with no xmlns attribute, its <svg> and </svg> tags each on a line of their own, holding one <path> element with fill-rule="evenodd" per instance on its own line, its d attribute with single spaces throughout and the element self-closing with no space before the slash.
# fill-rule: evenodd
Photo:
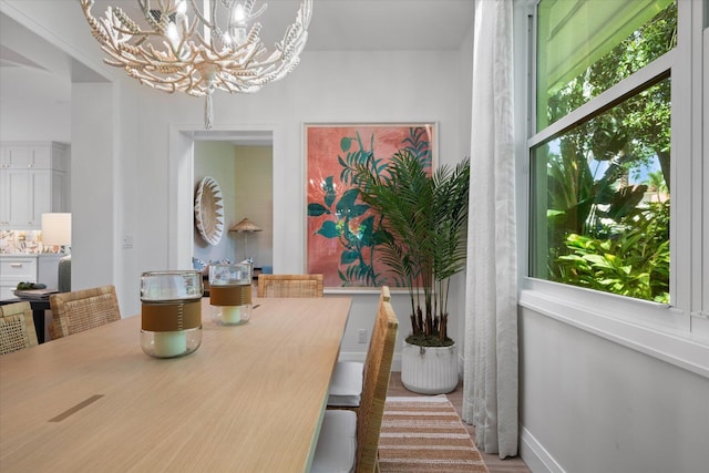
<svg viewBox="0 0 709 473">
<path fill-rule="evenodd" d="M 141 317 L 0 357 L 0 472 L 307 472 L 351 298 L 254 300 L 156 359 Z"/>
</svg>

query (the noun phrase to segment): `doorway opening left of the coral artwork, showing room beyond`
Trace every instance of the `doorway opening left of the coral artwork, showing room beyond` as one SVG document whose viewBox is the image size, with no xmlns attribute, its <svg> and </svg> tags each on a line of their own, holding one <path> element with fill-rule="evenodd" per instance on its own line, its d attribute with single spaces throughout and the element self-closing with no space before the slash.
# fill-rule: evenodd
<svg viewBox="0 0 709 473">
<path fill-rule="evenodd" d="M 277 140 L 277 132 L 269 126 L 172 130 L 171 178 L 177 183 L 171 192 L 171 215 L 175 216 L 171 230 L 177 236 L 169 244 L 174 267 L 248 257 L 257 268 L 273 267 L 273 163 Z M 207 244 L 194 224 L 195 191 L 207 175 L 218 182 L 223 195 L 224 229 L 217 245 Z M 228 230 L 243 218 L 261 228 L 246 236 L 248 244 L 244 234 Z"/>
</svg>

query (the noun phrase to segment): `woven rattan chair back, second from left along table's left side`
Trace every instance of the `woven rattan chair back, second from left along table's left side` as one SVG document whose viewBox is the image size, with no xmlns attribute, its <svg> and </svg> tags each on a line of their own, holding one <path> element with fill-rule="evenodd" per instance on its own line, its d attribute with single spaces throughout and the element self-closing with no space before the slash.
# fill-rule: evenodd
<svg viewBox="0 0 709 473">
<path fill-rule="evenodd" d="M 121 319 L 114 286 L 53 294 L 49 305 L 54 318 L 52 340 Z"/>
</svg>

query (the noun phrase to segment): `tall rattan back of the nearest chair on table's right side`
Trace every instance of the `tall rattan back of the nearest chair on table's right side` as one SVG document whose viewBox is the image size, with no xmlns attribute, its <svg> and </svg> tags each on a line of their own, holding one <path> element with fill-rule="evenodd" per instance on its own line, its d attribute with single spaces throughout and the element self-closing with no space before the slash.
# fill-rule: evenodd
<svg viewBox="0 0 709 473">
<path fill-rule="evenodd" d="M 377 452 L 384 417 L 384 403 L 397 346 L 399 320 L 389 301 L 389 288 L 382 288 L 370 352 L 364 364 L 362 399 L 357 413 L 357 472 L 379 471 Z"/>
</svg>

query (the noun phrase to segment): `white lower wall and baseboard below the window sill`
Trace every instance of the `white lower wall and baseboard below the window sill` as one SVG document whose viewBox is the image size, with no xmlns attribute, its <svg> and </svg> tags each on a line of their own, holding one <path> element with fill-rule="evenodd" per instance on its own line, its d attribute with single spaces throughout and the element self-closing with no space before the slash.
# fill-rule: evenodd
<svg viewBox="0 0 709 473">
<path fill-rule="evenodd" d="M 520 309 L 522 456 L 535 472 L 706 471 L 709 380 Z"/>
</svg>

